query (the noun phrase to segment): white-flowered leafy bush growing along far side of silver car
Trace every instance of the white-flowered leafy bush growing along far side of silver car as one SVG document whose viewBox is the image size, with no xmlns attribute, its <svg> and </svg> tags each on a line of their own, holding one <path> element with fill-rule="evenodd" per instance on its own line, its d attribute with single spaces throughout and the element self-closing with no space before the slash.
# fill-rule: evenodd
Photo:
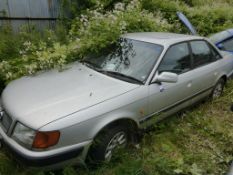
<svg viewBox="0 0 233 175">
<path fill-rule="evenodd" d="M 121 34 L 169 31 L 171 28 L 160 13 L 143 10 L 137 0 L 127 5 L 117 3 L 113 10 L 107 12 L 99 4 L 95 10 L 86 10 L 73 20 L 68 43 L 54 41 L 48 46 L 43 41 L 39 41 L 38 45 L 25 41 L 20 58 L 0 62 L 0 77 L 9 82 L 41 70 L 62 69 L 65 64 L 82 59 L 87 53 L 103 51 Z"/>
</svg>

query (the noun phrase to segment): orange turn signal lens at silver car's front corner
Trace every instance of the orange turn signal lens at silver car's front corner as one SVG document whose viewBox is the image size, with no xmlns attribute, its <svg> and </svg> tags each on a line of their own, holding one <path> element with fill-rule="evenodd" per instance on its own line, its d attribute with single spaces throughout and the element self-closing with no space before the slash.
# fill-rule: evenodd
<svg viewBox="0 0 233 175">
<path fill-rule="evenodd" d="M 32 147 L 38 149 L 48 148 L 58 143 L 60 138 L 59 131 L 37 132 Z"/>
</svg>

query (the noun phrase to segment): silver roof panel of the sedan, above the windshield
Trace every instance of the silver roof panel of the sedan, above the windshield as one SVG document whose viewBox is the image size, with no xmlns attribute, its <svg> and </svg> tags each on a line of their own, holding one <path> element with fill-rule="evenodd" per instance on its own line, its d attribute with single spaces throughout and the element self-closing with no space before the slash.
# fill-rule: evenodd
<svg viewBox="0 0 233 175">
<path fill-rule="evenodd" d="M 164 33 L 164 32 L 140 32 L 140 33 L 128 33 L 123 35 L 124 38 L 155 43 L 160 45 L 172 45 L 174 43 L 195 40 L 195 39 L 203 39 L 200 36 L 194 35 L 183 35 L 176 33 Z"/>
</svg>

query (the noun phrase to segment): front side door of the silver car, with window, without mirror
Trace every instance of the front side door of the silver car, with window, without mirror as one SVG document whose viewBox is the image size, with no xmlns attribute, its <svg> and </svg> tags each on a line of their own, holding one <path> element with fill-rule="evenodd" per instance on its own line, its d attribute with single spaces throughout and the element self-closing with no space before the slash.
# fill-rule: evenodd
<svg viewBox="0 0 233 175">
<path fill-rule="evenodd" d="M 172 72 L 178 74 L 176 83 L 152 83 L 149 85 L 148 123 L 156 122 L 180 108 L 189 96 L 191 88 L 191 56 L 186 42 L 171 46 L 164 55 L 156 74 Z M 187 103 L 186 103 L 187 104 Z M 153 117 L 152 117 L 153 116 Z M 149 119 L 152 119 L 150 120 Z"/>
</svg>

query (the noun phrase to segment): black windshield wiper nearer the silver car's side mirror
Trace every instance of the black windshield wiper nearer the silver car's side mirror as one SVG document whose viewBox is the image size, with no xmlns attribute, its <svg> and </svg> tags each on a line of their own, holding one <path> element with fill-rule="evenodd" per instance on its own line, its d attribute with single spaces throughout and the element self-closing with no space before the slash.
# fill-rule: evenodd
<svg viewBox="0 0 233 175">
<path fill-rule="evenodd" d="M 122 80 L 125 80 L 130 83 L 137 83 L 137 84 L 143 84 L 141 80 L 138 80 L 137 78 L 122 74 L 120 72 L 114 72 L 114 71 L 106 71 L 106 70 L 98 70 L 101 73 L 104 73 L 106 75 L 114 76 L 114 77 L 120 77 Z"/>
</svg>

